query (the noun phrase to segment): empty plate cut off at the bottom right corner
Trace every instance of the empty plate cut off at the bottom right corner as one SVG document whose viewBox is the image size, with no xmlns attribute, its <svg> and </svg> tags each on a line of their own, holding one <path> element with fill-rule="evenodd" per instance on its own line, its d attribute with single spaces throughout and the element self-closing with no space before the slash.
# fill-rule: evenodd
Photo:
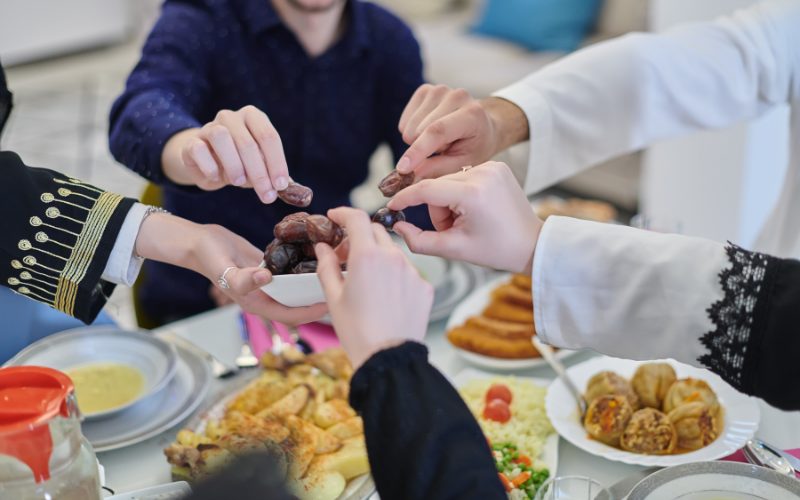
<svg viewBox="0 0 800 500">
<path fill-rule="evenodd" d="M 633 488 L 628 500 L 797 500 L 800 481 L 738 462 L 697 462 L 662 469 Z"/>
</svg>

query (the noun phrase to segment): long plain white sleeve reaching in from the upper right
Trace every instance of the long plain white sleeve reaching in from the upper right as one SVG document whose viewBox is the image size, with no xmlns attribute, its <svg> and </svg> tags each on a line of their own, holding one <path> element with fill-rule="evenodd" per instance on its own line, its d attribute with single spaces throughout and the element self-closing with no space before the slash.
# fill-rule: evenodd
<svg viewBox="0 0 800 500">
<path fill-rule="evenodd" d="M 598 43 L 494 95 L 528 118 L 524 187 L 536 192 L 660 139 L 799 98 L 800 0 Z"/>
</svg>

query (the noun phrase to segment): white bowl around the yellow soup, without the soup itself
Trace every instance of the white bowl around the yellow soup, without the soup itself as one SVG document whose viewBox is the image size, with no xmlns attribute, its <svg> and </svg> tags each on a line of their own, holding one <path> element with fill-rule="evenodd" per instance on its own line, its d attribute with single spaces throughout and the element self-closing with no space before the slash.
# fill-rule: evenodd
<svg viewBox="0 0 800 500">
<path fill-rule="evenodd" d="M 178 367 L 175 346 L 148 333 L 109 326 L 89 326 L 56 333 L 35 342 L 5 366 L 46 366 L 66 372 L 94 363 L 121 363 L 136 368 L 145 377 L 137 398 L 110 410 L 84 413 L 86 420 L 117 415 L 169 384 Z"/>
</svg>

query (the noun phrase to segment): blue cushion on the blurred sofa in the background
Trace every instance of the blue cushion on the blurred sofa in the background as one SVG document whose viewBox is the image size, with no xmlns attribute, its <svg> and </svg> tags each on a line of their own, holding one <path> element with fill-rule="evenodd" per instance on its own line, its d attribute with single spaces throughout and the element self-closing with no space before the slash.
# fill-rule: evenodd
<svg viewBox="0 0 800 500">
<path fill-rule="evenodd" d="M 594 27 L 601 0 L 486 0 L 474 33 L 530 50 L 572 51 Z"/>
</svg>

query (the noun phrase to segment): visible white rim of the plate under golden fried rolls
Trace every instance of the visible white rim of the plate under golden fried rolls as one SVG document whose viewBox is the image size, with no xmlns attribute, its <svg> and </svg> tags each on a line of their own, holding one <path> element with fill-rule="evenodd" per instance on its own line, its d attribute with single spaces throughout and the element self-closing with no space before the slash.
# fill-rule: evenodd
<svg viewBox="0 0 800 500">
<path fill-rule="evenodd" d="M 484 283 L 483 285 L 476 288 L 471 294 L 464 299 L 454 310 L 453 314 L 450 315 L 450 319 L 447 321 L 447 331 L 451 329 L 463 325 L 467 319 L 471 318 L 472 316 L 480 316 L 486 306 L 492 300 L 492 292 L 498 286 L 508 282 L 511 279 L 511 274 L 503 274 L 498 276 L 497 278 Z M 452 344 L 451 344 L 452 345 Z M 543 358 L 524 358 L 524 359 L 504 359 L 504 358 L 493 358 L 491 356 L 484 356 L 482 354 L 477 354 L 474 352 L 467 351 L 466 349 L 461 349 L 456 346 L 453 346 L 459 356 L 461 356 L 464 361 L 468 362 L 471 365 L 479 366 L 481 368 L 486 368 L 489 370 L 496 370 L 496 371 L 511 371 L 511 370 L 526 370 L 529 368 L 538 368 L 541 366 L 547 366 L 547 361 Z M 562 361 L 573 356 L 580 351 L 569 351 L 565 349 L 561 349 L 556 352 L 556 357 Z"/>
</svg>

